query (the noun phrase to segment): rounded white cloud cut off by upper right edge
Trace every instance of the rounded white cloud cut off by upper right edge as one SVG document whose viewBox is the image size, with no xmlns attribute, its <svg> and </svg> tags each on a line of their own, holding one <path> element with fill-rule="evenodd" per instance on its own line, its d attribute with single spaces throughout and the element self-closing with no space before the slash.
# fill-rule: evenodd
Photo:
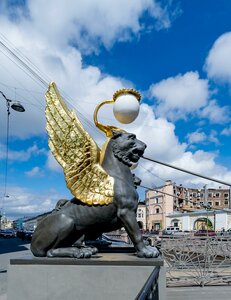
<svg viewBox="0 0 231 300">
<path fill-rule="evenodd" d="M 205 69 L 210 78 L 231 84 L 231 32 L 224 33 L 215 41 Z"/>
</svg>

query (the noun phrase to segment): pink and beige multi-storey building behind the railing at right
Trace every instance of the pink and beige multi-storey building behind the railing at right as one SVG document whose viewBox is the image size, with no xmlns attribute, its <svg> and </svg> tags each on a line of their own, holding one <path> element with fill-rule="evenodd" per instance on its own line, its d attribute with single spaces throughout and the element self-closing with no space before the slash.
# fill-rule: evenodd
<svg viewBox="0 0 231 300">
<path fill-rule="evenodd" d="M 146 192 L 147 229 L 166 228 L 166 217 L 174 212 L 179 214 L 204 210 L 205 205 L 215 209 L 230 208 L 229 189 L 186 188 L 167 180 L 165 185 Z M 177 222 L 172 220 L 172 225 Z"/>
</svg>

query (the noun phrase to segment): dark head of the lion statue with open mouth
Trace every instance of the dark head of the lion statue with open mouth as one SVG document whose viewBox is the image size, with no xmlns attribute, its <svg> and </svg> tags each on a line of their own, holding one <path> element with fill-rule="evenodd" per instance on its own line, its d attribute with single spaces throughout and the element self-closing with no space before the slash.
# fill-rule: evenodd
<svg viewBox="0 0 231 300">
<path fill-rule="evenodd" d="M 111 143 L 115 157 L 129 167 L 140 159 L 146 148 L 135 134 L 127 132 L 114 132 Z"/>
</svg>

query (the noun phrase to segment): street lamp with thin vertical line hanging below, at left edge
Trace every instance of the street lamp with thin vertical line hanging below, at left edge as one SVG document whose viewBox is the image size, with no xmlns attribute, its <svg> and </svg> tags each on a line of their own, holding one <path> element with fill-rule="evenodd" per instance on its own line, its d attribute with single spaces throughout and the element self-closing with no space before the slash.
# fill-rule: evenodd
<svg viewBox="0 0 231 300">
<path fill-rule="evenodd" d="M 7 108 L 7 125 L 6 125 L 6 165 L 5 165 L 5 185 L 4 185 L 4 197 L 8 197 L 6 194 L 7 190 L 7 177 L 8 177 L 8 152 L 9 152 L 9 129 L 10 129 L 10 108 L 17 112 L 24 112 L 25 108 L 19 101 L 13 101 L 5 96 L 5 94 L 0 91 L 0 94 L 6 100 L 6 108 Z"/>
</svg>

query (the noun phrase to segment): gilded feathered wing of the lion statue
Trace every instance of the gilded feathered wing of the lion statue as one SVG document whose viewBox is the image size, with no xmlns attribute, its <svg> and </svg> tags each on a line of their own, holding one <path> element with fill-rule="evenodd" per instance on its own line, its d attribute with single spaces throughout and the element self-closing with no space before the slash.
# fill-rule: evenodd
<svg viewBox="0 0 231 300">
<path fill-rule="evenodd" d="M 111 203 L 114 178 L 101 167 L 100 149 L 67 108 L 54 82 L 46 93 L 46 119 L 49 147 L 63 167 L 71 193 L 88 205 Z"/>
</svg>

